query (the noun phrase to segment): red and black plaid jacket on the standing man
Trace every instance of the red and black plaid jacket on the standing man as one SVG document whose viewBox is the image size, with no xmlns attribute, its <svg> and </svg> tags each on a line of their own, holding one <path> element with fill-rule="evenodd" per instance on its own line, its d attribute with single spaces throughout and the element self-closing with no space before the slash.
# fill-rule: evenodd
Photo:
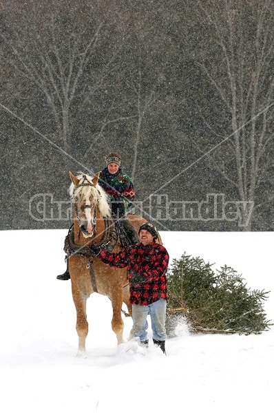
<svg viewBox="0 0 274 413">
<path fill-rule="evenodd" d="M 120 253 L 103 249 L 98 256 L 106 264 L 128 268 L 131 304 L 148 306 L 160 298 L 167 299 L 169 254 L 164 246 L 156 242 L 136 244 Z"/>
</svg>

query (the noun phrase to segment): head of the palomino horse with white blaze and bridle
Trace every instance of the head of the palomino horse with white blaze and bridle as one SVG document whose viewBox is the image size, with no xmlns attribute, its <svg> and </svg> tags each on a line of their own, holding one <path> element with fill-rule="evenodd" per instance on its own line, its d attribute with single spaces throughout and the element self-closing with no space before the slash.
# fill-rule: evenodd
<svg viewBox="0 0 274 413">
<path fill-rule="evenodd" d="M 91 178 L 88 175 L 74 176 L 70 172 L 70 196 L 80 231 L 84 237 L 96 237 L 96 211 L 103 217 L 110 215 L 107 194 L 98 185 L 99 173 Z"/>
</svg>

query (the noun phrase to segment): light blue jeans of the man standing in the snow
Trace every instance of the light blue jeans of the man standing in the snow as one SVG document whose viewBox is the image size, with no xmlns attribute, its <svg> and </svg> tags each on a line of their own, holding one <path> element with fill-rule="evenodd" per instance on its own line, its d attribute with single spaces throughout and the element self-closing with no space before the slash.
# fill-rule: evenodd
<svg viewBox="0 0 274 413">
<path fill-rule="evenodd" d="M 167 310 L 167 300 L 161 298 L 149 306 L 132 305 L 132 319 L 134 337 L 140 341 L 147 340 L 147 315 L 151 318 L 152 337 L 154 340 L 165 341 L 165 319 Z"/>
</svg>

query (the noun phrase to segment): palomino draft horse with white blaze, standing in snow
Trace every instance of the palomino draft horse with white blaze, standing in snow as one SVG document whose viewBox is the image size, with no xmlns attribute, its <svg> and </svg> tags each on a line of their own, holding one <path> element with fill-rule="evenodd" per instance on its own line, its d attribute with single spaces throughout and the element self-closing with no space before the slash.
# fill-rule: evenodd
<svg viewBox="0 0 274 413">
<path fill-rule="evenodd" d="M 112 301 L 112 330 L 116 334 L 118 344 L 125 342 L 122 305 L 123 302 L 126 304 L 131 315 L 131 304 L 127 269 L 114 269 L 89 253 L 89 244 L 103 244 L 113 252 L 123 249 L 111 218 L 107 193 L 98 185 L 99 174 L 91 178 L 83 174 L 74 176 L 70 172 L 70 178 L 72 184 L 69 191 L 74 203 L 74 225 L 66 237 L 65 251 L 69 255 L 72 297 L 76 308 L 78 354 L 84 355 L 88 332 L 86 301 L 89 295 L 96 292 Z M 138 215 L 129 215 L 128 218 L 137 233 L 140 225 L 146 222 Z M 160 235 L 158 242 L 161 243 Z"/>
</svg>

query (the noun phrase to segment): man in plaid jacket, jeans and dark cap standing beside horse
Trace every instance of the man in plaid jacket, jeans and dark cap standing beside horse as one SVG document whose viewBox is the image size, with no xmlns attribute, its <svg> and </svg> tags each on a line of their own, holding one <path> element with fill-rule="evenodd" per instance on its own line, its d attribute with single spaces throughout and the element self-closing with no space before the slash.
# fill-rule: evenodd
<svg viewBox="0 0 274 413">
<path fill-rule="evenodd" d="M 138 231 L 139 244 L 131 245 L 119 253 L 92 245 L 94 255 L 110 266 L 128 269 L 129 301 L 132 304 L 134 337 L 141 346 L 148 347 L 147 315 L 151 317 L 154 344 L 165 353 L 165 319 L 167 309 L 167 267 L 169 254 L 156 243 L 157 230 L 145 222 Z"/>
</svg>

